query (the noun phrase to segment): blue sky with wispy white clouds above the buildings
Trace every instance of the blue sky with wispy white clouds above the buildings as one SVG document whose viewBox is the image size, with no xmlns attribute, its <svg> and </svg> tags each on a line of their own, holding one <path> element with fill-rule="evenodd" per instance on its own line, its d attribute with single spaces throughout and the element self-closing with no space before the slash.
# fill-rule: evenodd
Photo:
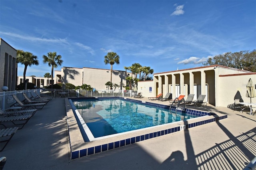
<svg viewBox="0 0 256 170">
<path fill-rule="evenodd" d="M 256 1 L 1 0 L 0 37 L 38 56 L 27 76 L 51 72 L 42 62 L 50 51 L 62 55 L 61 67 L 110 69 L 104 56 L 114 51 L 115 70 L 140 63 L 160 73 L 256 49 Z"/>
</svg>

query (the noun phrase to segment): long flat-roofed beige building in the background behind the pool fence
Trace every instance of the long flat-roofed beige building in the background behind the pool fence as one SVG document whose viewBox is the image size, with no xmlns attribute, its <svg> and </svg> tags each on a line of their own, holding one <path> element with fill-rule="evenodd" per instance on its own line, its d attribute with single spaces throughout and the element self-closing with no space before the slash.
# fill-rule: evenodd
<svg viewBox="0 0 256 170">
<path fill-rule="evenodd" d="M 113 70 L 112 83 L 120 85 L 123 83 L 126 86 L 125 77 L 129 73 L 126 71 Z M 131 74 L 131 73 L 130 73 Z M 37 87 L 48 86 L 48 78 L 44 77 L 31 77 L 27 76 L 28 82 L 34 83 Z M 50 78 L 51 79 L 51 78 Z M 50 80 L 49 79 L 49 80 Z M 23 76 L 18 77 L 18 84 L 22 83 Z M 110 89 L 105 84 L 110 81 L 110 70 L 109 69 L 96 69 L 96 68 L 74 68 L 74 67 L 63 67 L 61 71 L 54 71 L 54 84 L 55 83 L 71 83 L 75 86 L 81 86 L 83 84 L 90 85 L 97 90 L 108 90 Z M 115 87 L 113 87 L 114 89 Z M 116 87 L 116 90 L 123 89 L 123 87 Z M 125 88 L 124 88 L 125 89 Z"/>
</svg>

